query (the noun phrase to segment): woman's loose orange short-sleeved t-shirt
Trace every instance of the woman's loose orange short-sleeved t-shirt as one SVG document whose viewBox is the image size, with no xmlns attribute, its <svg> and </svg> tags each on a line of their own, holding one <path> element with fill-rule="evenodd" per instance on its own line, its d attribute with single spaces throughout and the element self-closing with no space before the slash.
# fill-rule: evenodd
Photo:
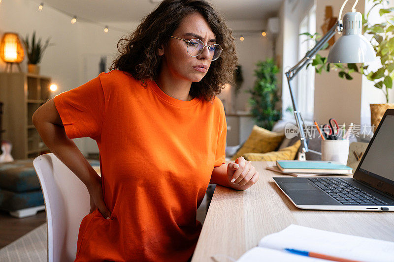
<svg viewBox="0 0 394 262">
<path fill-rule="evenodd" d="M 54 101 L 68 138 L 96 140 L 111 212 L 82 219 L 75 261 L 186 262 L 201 232 L 197 208 L 225 163 L 220 99 L 182 101 L 112 70 Z"/>
</svg>

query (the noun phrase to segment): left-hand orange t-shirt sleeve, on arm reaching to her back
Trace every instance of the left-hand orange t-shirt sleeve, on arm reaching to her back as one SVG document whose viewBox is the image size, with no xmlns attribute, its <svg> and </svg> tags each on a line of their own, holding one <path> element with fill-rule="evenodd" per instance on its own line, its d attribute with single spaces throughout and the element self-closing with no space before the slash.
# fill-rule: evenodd
<svg viewBox="0 0 394 262">
<path fill-rule="evenodd" d="M 68 138 L 90 137 L 101 134 L 104 116 L 104 91 L 99 76 L 82 86 L 54 97 Z"/>
</svg>

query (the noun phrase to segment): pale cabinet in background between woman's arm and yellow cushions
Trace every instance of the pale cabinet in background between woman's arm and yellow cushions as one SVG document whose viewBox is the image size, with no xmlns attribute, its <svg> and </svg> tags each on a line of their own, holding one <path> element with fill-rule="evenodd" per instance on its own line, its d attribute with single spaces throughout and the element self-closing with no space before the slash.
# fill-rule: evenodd
<svg viewBox="0 0 394 262">
<path fill-rule="evenodd" d="M 237 146 L 244 143 L 255 125 L 252 115 L 226 114 L 227 146 Z"/>
</svg>

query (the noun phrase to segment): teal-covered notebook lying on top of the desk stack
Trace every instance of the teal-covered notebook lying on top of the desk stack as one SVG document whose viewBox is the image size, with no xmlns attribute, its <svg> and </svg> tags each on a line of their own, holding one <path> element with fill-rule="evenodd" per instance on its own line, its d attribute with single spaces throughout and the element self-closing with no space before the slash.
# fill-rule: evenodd
<svg viewBox="0 0 394 262">
<path fill-rule="evenodd" d="M 352 170 L 351 167 L 333 161 L 298 161 L 298 160 L 278 160 L 276 163 L 282 168 L 288 169 L 341 169 Z"/>
</svg>

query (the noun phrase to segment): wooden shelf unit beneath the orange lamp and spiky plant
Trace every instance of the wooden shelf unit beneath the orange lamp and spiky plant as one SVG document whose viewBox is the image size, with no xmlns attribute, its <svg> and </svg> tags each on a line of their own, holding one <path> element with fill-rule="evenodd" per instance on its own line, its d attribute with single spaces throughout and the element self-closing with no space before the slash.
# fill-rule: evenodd
<svg viewBox="0 0 394 262">
<path fill-rule="evenodd" d="M 32 116 L 51 99 L 51 79 L 31 73 L 0 73 L 0 101 L 4 103 L 2 139 L 12 143 L 14 159 L 35 158 L 50 150 L 42 142 Z"/>
</svg>

